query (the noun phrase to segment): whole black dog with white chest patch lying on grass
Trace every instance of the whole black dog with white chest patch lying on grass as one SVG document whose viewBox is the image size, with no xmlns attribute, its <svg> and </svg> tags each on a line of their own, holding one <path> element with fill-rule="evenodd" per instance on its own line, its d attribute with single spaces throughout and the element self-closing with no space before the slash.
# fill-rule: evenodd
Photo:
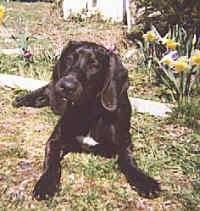
<svg viewBox="0 0 200 211">
<path fill-rule="evenodd" d="M 95 43 L 71 41 L 53 69 L 52 81 L 16 98 L 15 106 L 50 105 L 61 115 L 46 144 L 43 173 L 33 190 L 36 199 L 52 197 L 58 190 L 63 156 L 84 151 L 117 155 L 121 171 L 138 193 L 157 196 L 159 183 L 132 158 L 128 85 L 128 72 L 117 55 Z M 98 144 L 86 150 L 80 137 L 87 134 Z"/>
</svg>

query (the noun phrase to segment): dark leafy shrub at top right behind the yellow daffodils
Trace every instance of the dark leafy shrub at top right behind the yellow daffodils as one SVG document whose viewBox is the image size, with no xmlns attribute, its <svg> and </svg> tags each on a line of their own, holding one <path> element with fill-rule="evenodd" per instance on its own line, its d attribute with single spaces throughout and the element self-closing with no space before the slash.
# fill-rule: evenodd
<svg viewBox="0 0 200 211">
<path fill-rule="evenodd" d="M 137 11 L 143 8 L 143 13 L 139 12 L 141 15 L 136 17 L 133 39 L 135 33 L 138 34 L 138 28 L 146 31 L 150 29 L 151 24 L 155 25 L 161 34 L 165 34 L 169 26 L 178 24 L 188 34 L 195 33 L 200 36 L 199 0 L 135 0 L 135 2 Z"/>
</svg>

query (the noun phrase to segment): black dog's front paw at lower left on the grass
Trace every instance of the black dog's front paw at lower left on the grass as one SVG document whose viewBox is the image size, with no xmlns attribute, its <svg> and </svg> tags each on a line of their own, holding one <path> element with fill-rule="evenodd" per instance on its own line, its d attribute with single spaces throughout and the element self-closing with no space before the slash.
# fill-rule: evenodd
<svg viewBox="0 0 200 211">
<path fill-rule="evenodd" d="M 33 198 L 37 200 L 52 198 L 58 191 L 58 187 L 59 184 L 54 178 L 47 174 L 43 174 L 34 187 Z"/>
</svg>

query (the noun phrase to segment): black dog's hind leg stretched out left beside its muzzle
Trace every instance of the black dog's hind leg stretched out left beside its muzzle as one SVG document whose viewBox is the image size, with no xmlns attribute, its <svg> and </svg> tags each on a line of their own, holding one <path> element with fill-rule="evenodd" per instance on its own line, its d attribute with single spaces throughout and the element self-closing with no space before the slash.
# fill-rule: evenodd
<svg viewBox="0 0 200 211">
<path fill-rule="evenodd" d="M 17 96 L 12 105 L 15 107 L 30 106 L 40 108 L 49 105 L 47 89 L 49 85 L 36 89 L 23 96 Z"/>
</svg>

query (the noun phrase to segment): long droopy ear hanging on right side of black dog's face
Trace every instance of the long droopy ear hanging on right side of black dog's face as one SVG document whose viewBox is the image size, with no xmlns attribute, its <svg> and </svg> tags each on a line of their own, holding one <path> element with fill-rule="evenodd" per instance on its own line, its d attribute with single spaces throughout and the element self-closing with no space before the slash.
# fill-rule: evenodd
<svg viewBox="0 0 200 211">
<path fill-rule="evenodd" d="M 109 68 L 106 70 L 105 81 L 101 91 L 101 104 L 108 111 L 115 111 L 117 109 L 117 84 L 115 81 L 115 74 L 117 64 L 115 56 L 110 55 Z"/>
</svg>

